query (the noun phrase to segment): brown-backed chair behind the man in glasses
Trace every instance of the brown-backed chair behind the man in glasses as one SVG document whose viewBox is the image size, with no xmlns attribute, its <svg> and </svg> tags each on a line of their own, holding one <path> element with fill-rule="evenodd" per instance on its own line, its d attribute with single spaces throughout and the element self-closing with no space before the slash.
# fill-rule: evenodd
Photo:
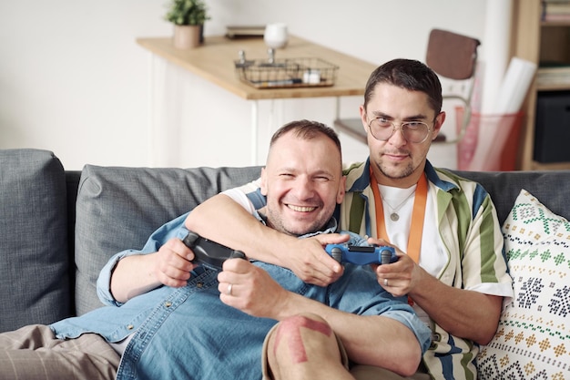
<svg viewBox="0 0 570 380">
<path fill-rule="evenodd" d="M 456 99 L 463 103 L 463 121 L 457 137 L 447 140 L 440 133 L 436 142 L 457 143 L 463 139 L 471 118 L 471 98 L 477 64 L 478 39 L 458 35 L 441 29 L 433 29 L 428 40 L 425 64 L 440 77 L 443 87 L 443 100 Z M 351 137 L 366 141 L 366 131 L 360 118 L 337 118 L 334 127 Z"/>
</svg>

